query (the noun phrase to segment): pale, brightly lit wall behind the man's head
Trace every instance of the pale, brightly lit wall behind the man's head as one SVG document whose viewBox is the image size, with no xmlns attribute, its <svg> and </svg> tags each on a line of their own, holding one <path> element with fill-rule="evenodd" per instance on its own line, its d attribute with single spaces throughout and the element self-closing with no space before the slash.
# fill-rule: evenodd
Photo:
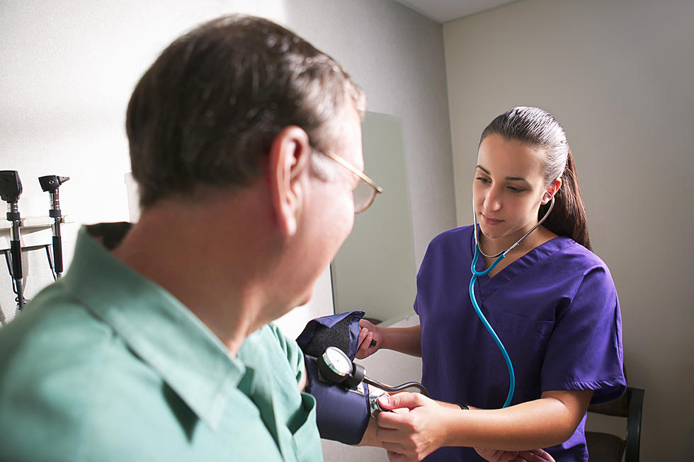
<svg viewBox="0 0 694 462">
<path fill-rule="evenodd" d="M 1 2 L 0 169 L 19 171 L 23 197 L 46 204 L 36 178 L 69 175 L 61 204 L 76 224 L 127 220 L 132 88 L 176 36 L 232 12 L 287 25 L 343 64 L 369 110 L 402 118 L 419 267 L 429 239 L 455 225 L 443 36 L 440 24 L 391 0 Z M 66 264 L 76 229 L 64 231 Z M 50 282 L 45 260 L 28 256 L 29 297 Z M 0 309 L 11 318 L 4 274 Z"/>
</svg>

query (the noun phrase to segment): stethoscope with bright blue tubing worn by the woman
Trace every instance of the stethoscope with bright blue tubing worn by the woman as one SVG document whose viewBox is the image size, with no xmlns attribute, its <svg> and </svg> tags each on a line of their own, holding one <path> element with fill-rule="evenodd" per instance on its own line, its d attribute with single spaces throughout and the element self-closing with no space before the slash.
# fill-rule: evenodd
<svg viewBox="0 0 694 462">
<path fill-rule="evenodd" d="M 508 352 L 506 352 L 504 344 L 501 343 L 501 340 L 499 340 L 499 336 L 496 335 L 494 329 L 491 328 L 491 325 L 489 325 L 489 321 L 487 321 L 487 318 L 485 318 L 484 314 L 482 314 L 482 310 L 479 309 L 477 299 L 474 298 L 474 282 L 477 281 L 478 277 L 486 276 L 489 274 L 491 270 L 494 270 L 494 267 L 496 267 L 496 265 L 499 265 L 499 262 L 501 262 L 501 260 L 504 260 L 504 257 L 506 257 L 506 255 L 508 255 L 508 253 L 511 252 L 511 250 L 518 247 L 518 244 L 523 242 L 523 239 L 527 238 L 530 233 L 537 229 L 537 226 L 540 226 L 542 222 L 545 221 L 545 219 L 547 219 L 547 216 L 549 216 L 550 212 L 552 212 L 552 208 L 554 208 L 554 195 L 550 195 L 550 197 L 552 199 L 552 202 L 550 202 L 550 208 L 547 209 L 547 213 L 545 213 L 545 216 L 542 216 L 542 219 L 538 221 L 537 224 L 533 226 L 532 229 L 530 229 L 530 231 L 525 233 L 523 237 L 518 239 L 518 241 L 516 241 L 516 243 L 513 244 L 513 246 L 507 248 L 502 252 L 497 253 L 496 255 L 487 255 L 486 253 L 482 252 L 482 250 L 480 250 L 479 248 L 479 238 L 477 236 L 477 214 L 474 212 L 474 199 L 472 200 L 472 220 L 474 222 L 474 258 L 472 258 L 472 265 L 470 265 L 470 271 L 472 272 L 472 279 L 470 279 L 470 301 L 472 301 L 472 306 L 474 307 L 474 311 L 475 313 L 477 313 L 479 320 L 482 321 L 484 327 L 487 328 L 487 330 L 489 331 L 489 334 L 494 339 L 496 346 L 499 347 L 499 350 L 501 350 L 501 354 L 504 355 L 506 367 L 508 367 L 508 396 L 506 397 L 506 402 L 504 403 L 502 408 L 508 408 L 508 405 L 511 404 L 513 392 L 516 391 L 516 374 L 513 372 L 513 364 L 511 364 L 511 358 L 508 357 Z M 494 262 L 491 265 L 489 265 L 489 267 L 484 271 L 477 271 L 476 269 L 477 259 L 479 258 L 480 253 L 487 258 L 496 258 L 496 260 L 494 260 Z"/>
</svg>

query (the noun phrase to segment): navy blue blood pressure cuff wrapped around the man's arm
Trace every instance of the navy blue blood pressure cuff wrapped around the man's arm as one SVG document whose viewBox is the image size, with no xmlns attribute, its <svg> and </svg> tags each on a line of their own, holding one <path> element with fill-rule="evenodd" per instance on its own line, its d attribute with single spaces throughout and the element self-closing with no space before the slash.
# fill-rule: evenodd
<svg viewBox="0 0 694 462">
<path fill-rule="evenodd" d="M 308 373 L 307 392 L 316 398 L 316 420 L 321 438 L 358 444 L 369 423 L 369 392 L 365 383 L 356 389 L 329 383 L 318 373 L 316 358 L 327 347 L 338 347 L 354 360 L 363 311 L 323 316 L 309 321 L 297 337 Z"/>
</svg>

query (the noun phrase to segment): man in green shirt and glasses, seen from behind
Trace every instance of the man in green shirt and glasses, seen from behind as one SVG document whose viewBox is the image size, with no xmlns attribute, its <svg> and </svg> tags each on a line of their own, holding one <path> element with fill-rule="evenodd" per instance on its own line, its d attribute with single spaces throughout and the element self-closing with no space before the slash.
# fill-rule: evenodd
<svg viewBox="0 0 694 462">
<path fill-rule="evenodd" d="M 302 354 L 268 323 L 375 195 L 364 110 L 270 21 L 166 48 L 127 108 L 140 221 L 81 229 L 68 274 L 0 332 L 0 459 L 321 460 Z"/>
</svg>

